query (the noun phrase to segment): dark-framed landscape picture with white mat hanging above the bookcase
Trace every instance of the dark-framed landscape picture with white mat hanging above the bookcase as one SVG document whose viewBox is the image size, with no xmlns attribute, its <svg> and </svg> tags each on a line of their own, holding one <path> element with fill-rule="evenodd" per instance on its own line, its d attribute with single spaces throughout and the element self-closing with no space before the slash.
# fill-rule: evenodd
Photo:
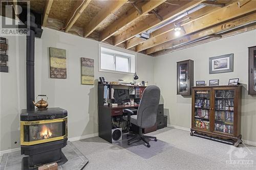
<svg viewBox="0 0 256 170">
<path fill-rule="evenodd" d="M 233 54 L 209 58 L 209 74 L 233 72 Z"/>
</svg>

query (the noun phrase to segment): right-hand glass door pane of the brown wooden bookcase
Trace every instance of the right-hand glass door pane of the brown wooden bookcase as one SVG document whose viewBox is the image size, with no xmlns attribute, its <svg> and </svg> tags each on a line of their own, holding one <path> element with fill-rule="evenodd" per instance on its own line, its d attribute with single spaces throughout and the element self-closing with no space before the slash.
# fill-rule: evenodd
<svg viewBox="0 0 256 170">
<path fill-rule="evenodd" d="M 234 90 L 215 90 L 214 131 L 234 132 Z"/>
</svg>

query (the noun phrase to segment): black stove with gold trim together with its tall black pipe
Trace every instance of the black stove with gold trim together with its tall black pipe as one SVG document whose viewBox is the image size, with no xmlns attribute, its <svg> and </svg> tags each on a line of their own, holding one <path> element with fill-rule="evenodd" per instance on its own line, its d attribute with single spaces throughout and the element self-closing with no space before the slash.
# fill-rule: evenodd
<svg viewBox="0 0 256 170">
<path fill-rule="evenodd" d="M 20 147 L 21 153 L 28 155 L 22 160 L 22 169 L 38 169 L 38 166 L 57 162 L 58 165 L 67 162 L 61 148 L 68 140 L 68 112 L 61 108 L 35 109 L 34 58 L 35 36 L 40 37 L 42 29 L 35 23 L 35 16 L 27 14 L 30 22 L 27 35 L 26 86 L 27 109 L 20 114 Z"/>
</svg>

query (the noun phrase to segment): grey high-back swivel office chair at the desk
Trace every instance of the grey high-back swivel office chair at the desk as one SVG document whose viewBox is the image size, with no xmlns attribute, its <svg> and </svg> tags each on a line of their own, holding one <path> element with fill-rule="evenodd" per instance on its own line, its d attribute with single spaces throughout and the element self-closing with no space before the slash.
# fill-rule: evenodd
<svg viewBox="0 0 256 170">
<path fill-rule="evenodd" d="M 128 137 L 133 137 L 127 141 L 127 144 L 130 145 L 132 141 L 143 140 L 147 147 L 150 148 L 150 143 L 148 139 L 157 138 L 154 136 L 146 136 L 142 133 L 142 128 L 150 128 L 156 124 L 157 120 L 157 109 L 160 100 L 160 89 L 155 85 L 147 86 L 142 94 L 140 105 L 137 111 L 137 115 L 133 115 L 133 111 L 130 109 L 124 109 L 127 112 L 127 116 L 124 116 L 124 119 L 128 121 L 128 126 L 130 129 L 130 124 L 139 126 L 139 134 L 131 134 L 129 130 Z"/>
</svg>

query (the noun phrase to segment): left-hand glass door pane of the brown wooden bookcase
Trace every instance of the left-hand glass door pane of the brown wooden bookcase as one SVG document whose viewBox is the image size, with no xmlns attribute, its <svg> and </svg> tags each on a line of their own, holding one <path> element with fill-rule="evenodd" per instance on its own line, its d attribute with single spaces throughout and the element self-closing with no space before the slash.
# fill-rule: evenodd
<svg viewBox="0 0 256 170">
<path fill-rule="evenodd" d="M 194 127 L 210 130 L 211 90 L 195 90 Z"/>
</svg>

